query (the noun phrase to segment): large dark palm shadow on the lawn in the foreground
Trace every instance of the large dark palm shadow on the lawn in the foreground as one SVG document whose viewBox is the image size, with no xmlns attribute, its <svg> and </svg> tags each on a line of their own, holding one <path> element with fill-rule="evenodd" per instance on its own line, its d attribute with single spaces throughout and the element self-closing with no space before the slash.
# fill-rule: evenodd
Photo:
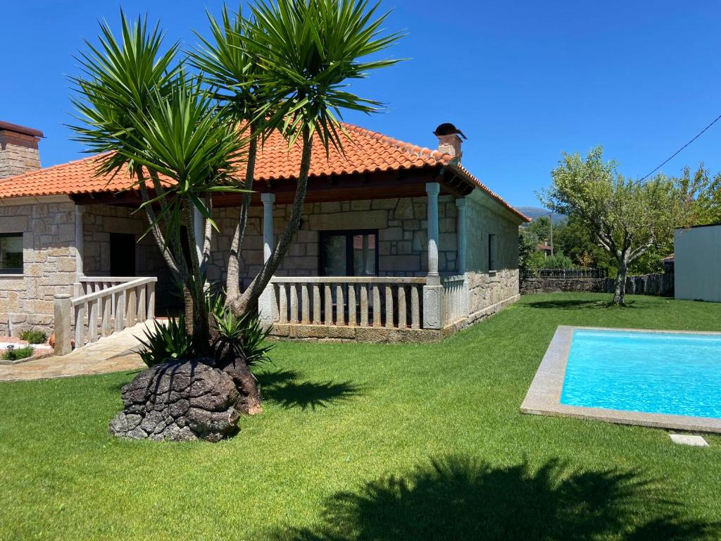
<svg viewBox="0 0 721 541">
<path fill-rule="evenodd" d="M 433 459 L 403 477 L 337 493 L 321 525 L 272 538 L 350 540 L 696 540 L 719 524 L 684 516 L 681 503 L 639 472 L 580 471 L 552 460 L 491 467 L 466 457 Z"/>
</svg>

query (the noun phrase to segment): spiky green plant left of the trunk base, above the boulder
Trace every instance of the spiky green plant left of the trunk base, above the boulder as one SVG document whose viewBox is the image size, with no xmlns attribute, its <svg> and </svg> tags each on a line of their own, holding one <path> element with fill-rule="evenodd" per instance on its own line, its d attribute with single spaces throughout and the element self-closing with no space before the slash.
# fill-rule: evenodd
<svg viewBox="0 0 721 541">
<path fill-rule="evenodd" d="M 156 322 L 153 329 L 147 329 L 144 333 L 146 340 L 138 338 L 143 345 L 138 354 L 148 366 L 190 360 L 197 356 L 198 348 L 193 343 L 193 337 L 185 333 L 184 314 L 169 318 L 165 325 Z"/>
</svg>

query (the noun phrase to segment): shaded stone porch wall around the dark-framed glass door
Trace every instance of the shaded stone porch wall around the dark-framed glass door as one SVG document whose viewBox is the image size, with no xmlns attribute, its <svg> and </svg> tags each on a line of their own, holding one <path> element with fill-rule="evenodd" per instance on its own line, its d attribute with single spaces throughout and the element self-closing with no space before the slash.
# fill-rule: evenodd
<svg viewBox="0 0 721 541">
<path fill-rule="evenodd" d="M 367 201 L 332 201 L 307 203 L 302 228 L 293 239 L 278 276 L 319 276 L 319 232 L 345 229 L 379 230 L 380 276 L 425 276 L 428 272 L 428 236 L 426 198 L 389 198 Z M 275 205 L 273 231 L 276 241 L 291 215 L 290 205 Z M 208 269 L 211 281 L 225 281 L 227 257 L 234 227 L 236 208 L 213 211 L 220 233 L 213 237 L 213 260 Z M 441 272 L 456 271 L 456 203 L 453 196 L 438 201 L 440 236 L 439 268 Z M 262 265 L 262 207 L 250 209 L 242 259 L 243 286 Z"/>
</svg>

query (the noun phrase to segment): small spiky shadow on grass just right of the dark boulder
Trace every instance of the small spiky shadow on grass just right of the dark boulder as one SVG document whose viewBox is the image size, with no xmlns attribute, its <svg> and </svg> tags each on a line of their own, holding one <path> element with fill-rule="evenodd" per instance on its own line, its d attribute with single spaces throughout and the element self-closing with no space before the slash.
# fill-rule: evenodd
<svg viewBox="0 0 721 541">
<path fill-rule="evenodd" d="M 361 387 L 352 382 L 308 382 L 298 381 L 296 371 L 278 370 L 257 374 L 264 398 L 279 403 L 283 408 L 327 408 L 333 403 L 361 394 Z"/>
</svg>

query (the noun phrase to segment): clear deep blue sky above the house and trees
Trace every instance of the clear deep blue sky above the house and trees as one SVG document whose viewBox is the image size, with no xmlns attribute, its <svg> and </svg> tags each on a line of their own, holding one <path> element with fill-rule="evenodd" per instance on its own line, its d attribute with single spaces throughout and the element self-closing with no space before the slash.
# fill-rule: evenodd
<svg viewBox="0 0 721 541">
<path fill-rule="evenodd" d="M 236 6 L 237 4 L 229 4 Z M 345 120 L 434 147 L 441 122 L 468 141 L 464 164 L 516 205 L 537 205 L 561 151 L 602 144 L 620 170 L 641 177 L 721 114 L 718 21 L 709 1 L 384 0 L 387 27 L 408 35 L 392 54 L 410 58 L 355 84 L 386 102 L 381 115 Z M 43 166 L 81 157 L 66 74 L 97 20 L 160 19 L 169 39 L 195 43 L 203 1 L 9 1 L 0 35 L 0 119 L 38 128 Z M 721 170 L 721 122 L 669 162 Z"/>
</svg>

